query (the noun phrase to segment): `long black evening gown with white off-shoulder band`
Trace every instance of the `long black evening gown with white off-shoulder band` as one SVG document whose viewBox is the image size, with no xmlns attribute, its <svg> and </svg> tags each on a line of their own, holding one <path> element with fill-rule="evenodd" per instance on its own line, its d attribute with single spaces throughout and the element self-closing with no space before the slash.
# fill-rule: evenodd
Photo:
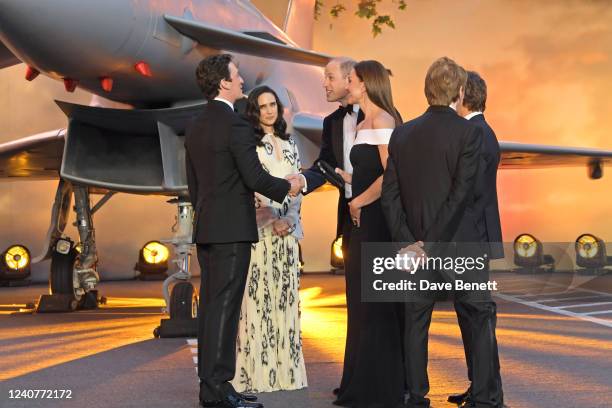
<svg viewBox="0 0 612 408">
<path fill-rule="evenodd" d="M 384 168 L 377 144 L 388 144 L 392 129 L 364 129 L 351 150 L 353 197 L 364 192 Z M 404 402 L 403 306 L 361 301 L 361 244 L 389 242 L 380 200 L 363 207 L 353 226 L 347 259 L 347 339 L 340 393 L 335 405 L 395 408 Z"/>
</svg>

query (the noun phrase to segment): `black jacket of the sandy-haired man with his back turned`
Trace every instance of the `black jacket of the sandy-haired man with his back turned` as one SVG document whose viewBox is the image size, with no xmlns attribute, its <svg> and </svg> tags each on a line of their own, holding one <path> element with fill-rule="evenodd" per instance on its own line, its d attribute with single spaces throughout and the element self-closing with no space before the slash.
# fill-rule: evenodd
<svg viewBox="0 0 612 408">
<path fill-rule="evenodd" d="M 475 207 L 482 139 L 480 127 L 447 106 L 430 106 L 394 130 L 381 196 L 394 241 L 482 242 Z"/>
</svg>

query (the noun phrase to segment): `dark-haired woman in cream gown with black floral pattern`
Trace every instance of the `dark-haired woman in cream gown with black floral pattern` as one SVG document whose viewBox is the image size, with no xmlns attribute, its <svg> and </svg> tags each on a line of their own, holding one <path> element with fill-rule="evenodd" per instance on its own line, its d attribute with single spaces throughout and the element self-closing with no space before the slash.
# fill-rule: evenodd
<svg viewBox="0 0 612 408">
<path fill-rule="evenodd" d="M 300 171 L 298 149 L 286 133 L 282 113 L 283 106 L 271 88 L 262 86 L 251 91 L 246 118 L 259 139 L 259 160 L 276 177 Z M 307 386 L 298 293 L 301 200 L 301 195 L 288 195 L 278 204 L 255 194 L 259 242 L 251 248 L 240 311 L 236 376 L 232 380 L 238 392 Z"/>
</svg>

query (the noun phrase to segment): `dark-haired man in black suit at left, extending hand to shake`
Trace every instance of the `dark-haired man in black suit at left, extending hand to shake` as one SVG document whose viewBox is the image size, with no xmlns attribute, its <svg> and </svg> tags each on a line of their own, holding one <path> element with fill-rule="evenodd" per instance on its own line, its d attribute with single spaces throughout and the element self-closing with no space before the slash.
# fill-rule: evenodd
<svg viewBox="0 0 612 408">
<path fill-rule="evenodd" d="M 186 171 L 194 208 L 194 242 L 202 270 L 198 314 L 198 375 L 204 407 L 259 408 L 230 384 L 236 335 L 251 257 L 258 241 L 253 191 L 282 202 L 298 183 L 261 166 L 251 127 L 234 113 L 243 80 L 229 54 L 200 62 L 198 85 L 208 101 L 187 130 Z"/>
</svg>

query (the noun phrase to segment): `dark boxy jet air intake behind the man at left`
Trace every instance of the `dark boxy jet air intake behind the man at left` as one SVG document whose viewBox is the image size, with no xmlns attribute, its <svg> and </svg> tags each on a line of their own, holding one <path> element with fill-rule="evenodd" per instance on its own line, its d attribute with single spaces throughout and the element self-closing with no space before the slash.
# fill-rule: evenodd
<svg viewBox="0 0 612 408">
<path fill-rule="evenodd" d="M 134 194 L 187 193 L 182 135 L 201 104 L 151 110 L 57 104 L 69 119 L 62 178 Z"/>
</svg>

